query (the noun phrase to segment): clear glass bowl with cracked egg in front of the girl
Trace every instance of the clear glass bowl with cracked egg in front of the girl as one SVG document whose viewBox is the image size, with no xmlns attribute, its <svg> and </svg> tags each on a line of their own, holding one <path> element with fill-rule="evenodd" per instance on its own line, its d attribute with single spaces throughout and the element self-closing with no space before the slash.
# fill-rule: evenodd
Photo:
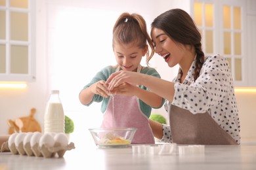
<svg viewBox="0 0 256 170">
<path fill-rule="evenodd" d="M 135 127 L 99 127 L 90 128 L 89 131 L 99 147 L 129 146 L 137 131 Z"/>
</svg>

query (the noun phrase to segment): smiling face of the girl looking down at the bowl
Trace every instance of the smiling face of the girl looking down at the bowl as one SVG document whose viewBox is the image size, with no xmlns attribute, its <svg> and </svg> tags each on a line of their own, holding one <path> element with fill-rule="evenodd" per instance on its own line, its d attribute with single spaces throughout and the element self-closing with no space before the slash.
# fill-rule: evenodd
<svg viewBox="0 0 256 170">
<path fill-rule="evenodd" d="M 122 70 L 137 71 L 137 67 L 140 64 L 142 56 L 145 56 L 148 50 L 148 46 L 142 49 L 135 44 L 136 43 L 133 42 L 129 44 L 114 44 L 116 62 Z"/>
</svg>

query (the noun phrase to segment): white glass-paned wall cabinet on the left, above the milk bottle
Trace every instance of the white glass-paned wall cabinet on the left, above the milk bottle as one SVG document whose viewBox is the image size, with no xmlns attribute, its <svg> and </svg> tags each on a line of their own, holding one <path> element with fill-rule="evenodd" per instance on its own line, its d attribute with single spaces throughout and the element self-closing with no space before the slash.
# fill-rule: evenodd
<svg viewBox="0 0 256 170">
<path fill-rule="evenodd" d="M 0 1 L 0 81 L 35 80 L 35 1 Z"/>
</svg>

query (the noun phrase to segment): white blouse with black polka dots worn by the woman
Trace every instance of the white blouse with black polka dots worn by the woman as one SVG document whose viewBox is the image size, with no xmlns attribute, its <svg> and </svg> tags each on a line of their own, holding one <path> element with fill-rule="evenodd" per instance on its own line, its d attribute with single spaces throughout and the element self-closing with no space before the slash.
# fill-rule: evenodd
<svg viewBox="0 0 256 170">
<path fill-rule="evenodd" d="M 181 69 L 179 70 L 173 80 L 175 95 L 171 104 L 190 110 L 193 114 L 208 112 L 240 144 L 240 120 L 228 62 L 219 55 L 206 57 L 196 82 L 195 65 L 196 61 L 193 61 L 183 83 L 180 83 Z M 172 142 L 171 129 L 167 125 L 163 125 L 161 142 Z"/>
</svg>

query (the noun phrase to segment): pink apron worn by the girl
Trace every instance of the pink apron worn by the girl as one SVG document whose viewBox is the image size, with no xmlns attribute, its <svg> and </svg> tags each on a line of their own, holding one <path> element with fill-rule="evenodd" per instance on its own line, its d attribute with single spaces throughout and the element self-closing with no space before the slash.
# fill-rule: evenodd
<svg viewBox="0 0 256 170">
<path fill-rule="evenodd" d="M 140 69 L 141 66 L 138 67 L 137 71 L 140 72 Z M 119 71 L 119 68 L 117 68 L 117 71 Z M 110 95 L 101 127 L 137 127 L 131 143 L 155 143 L 148 117 L 140 110 L 139 99 L 136 96 L 116 94 L 112 97 Z"/>
</svg>

